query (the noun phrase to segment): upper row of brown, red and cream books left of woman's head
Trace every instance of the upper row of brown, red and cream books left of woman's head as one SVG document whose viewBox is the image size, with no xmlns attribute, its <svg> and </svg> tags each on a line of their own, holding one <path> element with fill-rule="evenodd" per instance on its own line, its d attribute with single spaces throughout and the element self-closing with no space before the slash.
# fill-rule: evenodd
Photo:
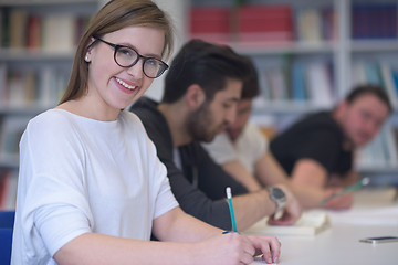
<svg viewBox="0 0 398 265">
<path fill-rule="evenodd" d="M 70 52 L 77 44 L 88 21 L 88 15 L 34 14 L 23 8 L 2 8 L 0 46 Z"/>
</svg>

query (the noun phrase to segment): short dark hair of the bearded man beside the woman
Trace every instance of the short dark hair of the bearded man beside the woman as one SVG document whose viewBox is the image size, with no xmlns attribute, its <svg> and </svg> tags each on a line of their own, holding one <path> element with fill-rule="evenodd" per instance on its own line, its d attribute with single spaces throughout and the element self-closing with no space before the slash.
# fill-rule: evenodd
<svg viewBox="0 0 398 265">
<path fill-rule="evenodd" d="M 248 74 L 247 61 L 232 49 L 191 40 L 177 53 L 167 71 L 161 102 L 177 102 L 192 84 L 200 85 L 206 99 L 212 100 L 217 92 L 226 88 L 228 78 L 243 82 Z"/>
</svg>

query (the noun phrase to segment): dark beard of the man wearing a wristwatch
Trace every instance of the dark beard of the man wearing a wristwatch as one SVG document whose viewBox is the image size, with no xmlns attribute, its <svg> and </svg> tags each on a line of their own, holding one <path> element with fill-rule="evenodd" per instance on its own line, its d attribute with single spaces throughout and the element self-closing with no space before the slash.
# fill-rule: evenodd
<svg viewBox="0 0 398 265">
<path fill-rule="evenodd" d="M 198 109 L 190 113 L 186 119 L 186 127 L 193 140 L 210 142 L 214 139 L 217 131 L 210 131 L 213 124 L 209 104 L 203 103 Z"/>
</svg>

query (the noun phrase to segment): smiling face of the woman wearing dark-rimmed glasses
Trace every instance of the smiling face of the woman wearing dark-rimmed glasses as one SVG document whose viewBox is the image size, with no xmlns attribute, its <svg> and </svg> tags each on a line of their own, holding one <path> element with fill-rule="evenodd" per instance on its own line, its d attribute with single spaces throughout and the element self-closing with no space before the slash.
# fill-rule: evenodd
<svg viewBox="0 0 398 265">
<path fill-rule="evenodd" d="M 165 33 L 160 29 L 129 26 L 102 36 L 113 44 L 130 46 L 143 56 L 161 59 Z M 87 52 L 90 102 L 116 110 L 137 100 L 150 86 L 153 80 L 143 72 L 143 59 L 132 67 L 122 67 L 114 60 L 115 49 L 97 41 Z"/>
</svg>

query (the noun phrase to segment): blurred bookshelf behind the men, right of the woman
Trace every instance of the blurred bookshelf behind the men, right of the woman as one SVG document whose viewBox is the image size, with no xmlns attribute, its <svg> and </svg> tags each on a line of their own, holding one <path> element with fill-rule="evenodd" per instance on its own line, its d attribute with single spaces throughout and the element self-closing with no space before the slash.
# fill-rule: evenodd
<svg viewBox="0 0 398 265">
<path fill-rule="evenodd" d="M 214 14 L 200 17 L 207 10 Z M 396 112 L 360 151 L 357 167 L 398 184 L 398 1 L 191 0 L 189 12 L 188 38 L 228 44 L 253 59 L 262 89 L 253 119 L 263 126 L 282 130 L 304 114 L 333 107 L 359 83 L 385 87 Z M 275 26 L 259 29 L 265 23 Z"/>
</svg>

